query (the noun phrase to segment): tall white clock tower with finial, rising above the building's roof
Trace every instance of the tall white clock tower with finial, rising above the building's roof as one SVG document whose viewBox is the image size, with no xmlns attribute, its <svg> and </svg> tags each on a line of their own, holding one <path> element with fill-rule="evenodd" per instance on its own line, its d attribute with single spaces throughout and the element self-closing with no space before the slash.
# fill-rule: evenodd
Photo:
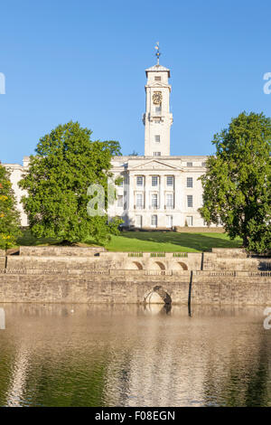
<svg viewBox="0 0 271 425">
<path fill-rule="evenodd" d="M 156 46 L 157 63 L 145 70 L 145 156 L 170 156 L 170 131 L 173 114 L 170 112 L 170 70 L 159 64 L 159 43 Z"/>
</svg>

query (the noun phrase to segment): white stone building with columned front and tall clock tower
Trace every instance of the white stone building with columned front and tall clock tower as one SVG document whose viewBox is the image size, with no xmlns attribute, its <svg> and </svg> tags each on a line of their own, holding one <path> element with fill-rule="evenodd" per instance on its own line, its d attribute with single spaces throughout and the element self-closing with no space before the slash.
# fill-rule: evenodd
<svg viewBox="0 0 271 425">
<path fill-rule="evenodd" d="M 170 130 L 173 114 L 170 109 L 170 70 L 157 63 L 145 70 L 145 156 L 115 156 L 112 171 L 122 176 L 117 187 L 117 201 L 108 208 L 109 217 L 121 217 L 126 227 L 172 229 L 175 226 L 202 227 L 198 209 L 202 205 L 201 181 L 207 156 L 171 156 Z M 22 216 L 27 217 L 20 203 L 23 191 L 18 181 L 27 171 L 29 157 L 22 165 L 5 164 Z"/>
</svg>

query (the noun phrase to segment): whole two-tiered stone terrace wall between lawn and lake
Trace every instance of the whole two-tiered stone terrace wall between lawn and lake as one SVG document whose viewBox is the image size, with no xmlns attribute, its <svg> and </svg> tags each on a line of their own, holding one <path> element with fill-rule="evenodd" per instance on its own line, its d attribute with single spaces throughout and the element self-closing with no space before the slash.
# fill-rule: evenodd
<svg viewBox="0 0 271 425">
<path fill-rule="evenodd" d="M 22 247 L 6 264 L 3 252 L 0 302 L 142 303 L 160 291 L 174 304 L 187 304 L 192 288 L 192 304 L 271 306 L 271 260 L 248 258 L 242 250 L 202 256 Z"/>
</svg>

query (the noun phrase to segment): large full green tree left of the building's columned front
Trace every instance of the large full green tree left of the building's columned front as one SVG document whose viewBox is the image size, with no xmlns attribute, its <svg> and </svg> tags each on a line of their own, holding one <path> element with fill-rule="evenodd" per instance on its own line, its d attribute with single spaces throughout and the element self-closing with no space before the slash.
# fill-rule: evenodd
<svg viewBox="0 0 271 425">
<path fill-rule="evenodd" d="M 86 237 L 106 241 L 117 234 L 121 221 L 107 222 L 107 178 L 112 156 L 121 155 L 120 146 L 115 141 L 91 141 L 91 133 L 70 121 L 40 139 L 37 155 L 31 156 L 19 184 L 28 192 L 22 202 L 34 236 L 77 242 Z M 104 189 L 103 216 L 89 216 L 88 203 L 96 195 L 88 194 L 90 184 Z"/>
</svg>

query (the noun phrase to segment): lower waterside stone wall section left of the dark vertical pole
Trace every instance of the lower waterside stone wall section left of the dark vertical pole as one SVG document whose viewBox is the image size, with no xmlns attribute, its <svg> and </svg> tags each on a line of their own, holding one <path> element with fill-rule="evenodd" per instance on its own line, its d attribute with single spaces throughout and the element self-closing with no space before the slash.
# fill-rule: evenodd
<svg viewBox="0 0 271 425">
<path fill-rule="evenodd" d="M 135 272 L 134 272 L 135 273 Z M 0 302 L 140 303 L 155 286 L 173 302 L 188 300 L 190 272 L 182 276 L 0 275 Z"/>
</svg>

